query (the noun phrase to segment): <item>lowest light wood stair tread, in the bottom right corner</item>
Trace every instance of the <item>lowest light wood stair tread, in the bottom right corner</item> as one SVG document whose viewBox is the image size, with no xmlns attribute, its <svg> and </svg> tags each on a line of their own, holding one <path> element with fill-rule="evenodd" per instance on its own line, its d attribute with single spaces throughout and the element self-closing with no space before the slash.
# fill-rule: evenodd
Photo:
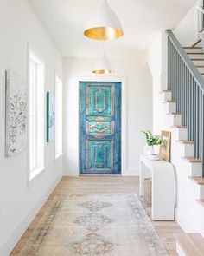
<svg viewBox="0 0 204 256">
<path fill-rule="evenodd" d="M 177 234 L 176 241 L 182 247 L 186 256 L 203 256 L 186 233 Z"/>
</svg>

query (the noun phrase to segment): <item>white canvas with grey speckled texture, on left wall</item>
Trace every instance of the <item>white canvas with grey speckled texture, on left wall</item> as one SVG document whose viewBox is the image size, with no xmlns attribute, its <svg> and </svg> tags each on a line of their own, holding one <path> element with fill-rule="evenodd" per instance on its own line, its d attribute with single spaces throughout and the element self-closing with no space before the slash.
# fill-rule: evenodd
<svg viewBox="0 0 204 256">
<path fill-rule="evenodd" d="M 6 147 L 7 157 L 26 150 L 27 83 L 13 71 L 6 71 Z"/>
</svg>

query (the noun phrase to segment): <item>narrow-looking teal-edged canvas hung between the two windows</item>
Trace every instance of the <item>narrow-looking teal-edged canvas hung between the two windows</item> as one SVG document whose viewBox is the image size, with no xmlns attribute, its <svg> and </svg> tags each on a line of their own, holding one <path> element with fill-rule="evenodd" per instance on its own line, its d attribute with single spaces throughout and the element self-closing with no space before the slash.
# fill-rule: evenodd
<svg viewBox="0 0 204 256">
<path fill-rule="evenodd" d="M 47 93 L 47 142 L 54 141 L 55 104 L 54 95 Z"/>
</svg>

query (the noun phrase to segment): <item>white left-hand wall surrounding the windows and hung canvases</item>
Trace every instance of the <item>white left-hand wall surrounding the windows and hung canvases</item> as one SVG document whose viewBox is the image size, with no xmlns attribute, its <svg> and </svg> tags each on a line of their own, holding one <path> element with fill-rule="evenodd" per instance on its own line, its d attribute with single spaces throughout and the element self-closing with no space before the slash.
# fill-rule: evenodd
<svg viewBox="0 0 204 256">
<path fill-rule="evenodd" d="M 45 142 L 45 171 L 28 183 L 27 153 L 5 158 L 5 70 L 27 79 L 28 43 L 45 62 L 45 92 L 54 92 L 54 72 L 62 78 L 62 60 L 27 0 L 1 0 L 0 7 L 0 255 L 15 246 L 48 194 L 61 179 L 54 142 Z"/>
</svg>

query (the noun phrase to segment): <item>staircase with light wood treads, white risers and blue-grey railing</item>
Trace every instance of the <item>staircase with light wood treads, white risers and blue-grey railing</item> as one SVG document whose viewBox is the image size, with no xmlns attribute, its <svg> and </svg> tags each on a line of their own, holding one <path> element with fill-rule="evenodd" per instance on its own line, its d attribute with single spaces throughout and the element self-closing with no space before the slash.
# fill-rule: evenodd
<svg viewBox="0 0 204 256">
<path fill-rule="evenodd" d="M 182 47 L 171 30 L 167 35 L 168 89 L 160 92 L 160 97 L 172 133 L 171 162 L 178 195 L 176 221 L 187 229 L 187 233 L 176 236 L 176 248 L 180 256 L 203 256 L 204 50 L 201 39 Z M 188 220 L 194 220 L 194 225 L 186 225 Z"/>
</svg>

